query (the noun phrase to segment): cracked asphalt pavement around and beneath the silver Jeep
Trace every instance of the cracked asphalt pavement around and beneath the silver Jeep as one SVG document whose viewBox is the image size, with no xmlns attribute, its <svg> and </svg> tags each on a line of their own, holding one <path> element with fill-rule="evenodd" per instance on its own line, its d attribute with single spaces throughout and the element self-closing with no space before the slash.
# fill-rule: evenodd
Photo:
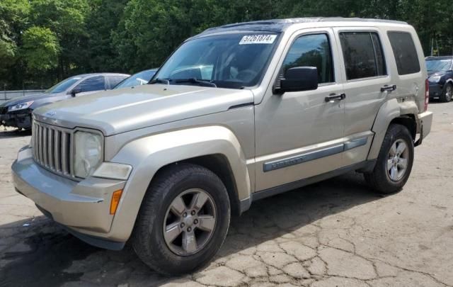
<svg viewBox="0 0 453 287">
<path fill-rule="evenodd" d="M 453 102 L 432 103 L 403 191 L 377 196 L 350 173 L 253 203 L 217 257 L 180 278 L 151 271 L 129 244 L 91 247 L 11 184 L 27 133 L 0 132 L 0 286 L 453 286 Z"/>
</svg>

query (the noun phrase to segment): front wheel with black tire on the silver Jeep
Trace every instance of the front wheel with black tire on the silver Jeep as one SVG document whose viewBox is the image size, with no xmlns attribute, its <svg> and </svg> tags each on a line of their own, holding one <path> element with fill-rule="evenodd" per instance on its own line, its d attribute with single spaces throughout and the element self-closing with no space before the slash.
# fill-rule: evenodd
<svg viewBox="0 0 453 287">
<path fill-rule="evenodd" d="M 204 205 L 195 213 L 197 207 L 190 206 L 204 198 Z M 229 202 L 224 184 L 212 171 L 194 164 L 175 164 L 151 182 L 134 226 L 132 247 L 145 264 L 161 274 L 181 275 L 200 269 L 225 240 L 231 216 Z M 212 231 L 206 231 L 206 225 Z M 185 231 L 171 241 L 179 230 Z"/>
</svg>

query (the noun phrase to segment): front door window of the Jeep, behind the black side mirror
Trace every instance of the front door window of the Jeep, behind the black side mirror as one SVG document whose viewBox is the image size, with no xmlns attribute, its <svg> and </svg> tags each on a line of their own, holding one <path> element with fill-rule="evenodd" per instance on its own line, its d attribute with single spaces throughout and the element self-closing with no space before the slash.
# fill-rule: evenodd
<svg viewBox="0 0 453 287">
<path fill-rule="evenodd" d="M 292 67 L 318 68 L 318 81 L 332 83 L 333 62 L 331 45 L 326 34 L 303 35 L 292 43 L 283 62 L 282 76 Z"/>
</svg>

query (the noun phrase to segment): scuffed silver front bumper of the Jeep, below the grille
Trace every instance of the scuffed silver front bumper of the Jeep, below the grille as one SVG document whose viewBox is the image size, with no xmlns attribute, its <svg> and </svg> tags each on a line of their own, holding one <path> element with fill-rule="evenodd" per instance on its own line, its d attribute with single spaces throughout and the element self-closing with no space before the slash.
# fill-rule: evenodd
<svg viewBox="0 0 453 287">
<path fill-rule="evenodd" d="M 110 215 L 112 193 L 124 188 L 126 181 L 93 177 L 84 181 L 66 179 L 36 164 L 30 147 L 19 151 L 12 174 L 19 193 L 81 240 L 108 249 L 120 249 L 118 246 L 124 245 L 110 238 L 109 232 L 114 218 Z"/>
</svg>

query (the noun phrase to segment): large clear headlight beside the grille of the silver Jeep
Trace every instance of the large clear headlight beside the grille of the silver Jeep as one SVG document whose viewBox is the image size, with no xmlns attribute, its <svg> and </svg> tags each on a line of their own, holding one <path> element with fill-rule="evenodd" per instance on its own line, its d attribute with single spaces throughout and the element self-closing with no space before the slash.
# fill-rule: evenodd
<svg viewBox="0 0 453 287">
<path fill-rule="evenodd" d="M 90 176 L 102 162 L 101 135 L 77 131 L 74 134 L 74 150 L 75 176 Z"/>
</svg>

